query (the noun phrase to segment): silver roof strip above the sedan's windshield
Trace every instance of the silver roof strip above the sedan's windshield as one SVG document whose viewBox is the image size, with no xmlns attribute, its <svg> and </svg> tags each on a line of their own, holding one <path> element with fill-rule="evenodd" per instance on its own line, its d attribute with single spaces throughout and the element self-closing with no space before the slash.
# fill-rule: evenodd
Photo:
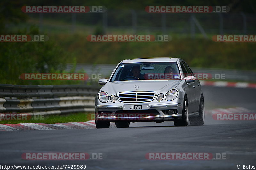
<svg viewBox="0 0 256 170">
<path fill-rule="evenodd" d="M 123 60 L 121 63 L 141 63 L 141 62 L 177 62 L 177 58 L 156 57 L 156 58 L 132 58 Z"/>
</svg>

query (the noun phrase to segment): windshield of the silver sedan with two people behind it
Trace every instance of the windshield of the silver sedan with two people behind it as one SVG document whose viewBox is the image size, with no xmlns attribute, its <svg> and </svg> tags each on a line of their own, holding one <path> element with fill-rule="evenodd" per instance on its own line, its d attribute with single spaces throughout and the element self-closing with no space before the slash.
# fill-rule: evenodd
<svg viewBox="0 0 256 170">
<path fill-rule="evenodd" d="M 116 69 L 110 81 L 180 80 L 176 62 L 124 63 Z"/>
</svg>

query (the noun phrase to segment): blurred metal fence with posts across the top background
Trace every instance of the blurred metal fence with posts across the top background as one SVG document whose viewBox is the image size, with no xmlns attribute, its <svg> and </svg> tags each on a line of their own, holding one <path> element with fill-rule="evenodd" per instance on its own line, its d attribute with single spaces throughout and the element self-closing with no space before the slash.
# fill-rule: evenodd
<svg viewBox="0 0 256 170">
<path fill-rule="evenodd" d="M 246 13 L 147 13 L 113 10 L 104 13 L 29 13 L 42 33 L 253 34 L 256 15 Z M 47 22 L 49 20 L 59 22 Z M 87 29 L 85 28 L 87 27 Z M 56 32 L 55 32 L 55 31 Z M 97 31 L 96 31 L 97 30 Z M 100 30 L 100 32 L 99 32 Z M 121 32 L 120 32 L 121 31 Z"/>
</svg>

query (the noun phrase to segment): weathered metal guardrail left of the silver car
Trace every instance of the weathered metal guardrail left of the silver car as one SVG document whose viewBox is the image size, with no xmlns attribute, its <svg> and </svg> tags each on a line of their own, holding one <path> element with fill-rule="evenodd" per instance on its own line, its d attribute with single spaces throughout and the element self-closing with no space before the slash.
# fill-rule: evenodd
<svg viewBox="0 0 256 170">
<path fill-rule="evenodd" d="M 0 113 L 31 115 L 94 112 L 100 87 L 86 85 L 0 84 Z"/>
</svg>

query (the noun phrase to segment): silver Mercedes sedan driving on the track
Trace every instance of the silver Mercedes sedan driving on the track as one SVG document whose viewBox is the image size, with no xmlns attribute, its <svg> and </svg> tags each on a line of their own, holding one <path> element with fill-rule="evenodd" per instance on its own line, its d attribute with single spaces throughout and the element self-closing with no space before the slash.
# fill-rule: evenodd
<svg viewBox="0 0 256 170">
<path fill-rule="evenodd" d="M 117 64 L 95 97 L 97 128 L 129 127 L 130 122 L 173 121 L 175 126 L 204 124 L 199 80 L 180 58 L 136 58 Z"/>
</svg>

